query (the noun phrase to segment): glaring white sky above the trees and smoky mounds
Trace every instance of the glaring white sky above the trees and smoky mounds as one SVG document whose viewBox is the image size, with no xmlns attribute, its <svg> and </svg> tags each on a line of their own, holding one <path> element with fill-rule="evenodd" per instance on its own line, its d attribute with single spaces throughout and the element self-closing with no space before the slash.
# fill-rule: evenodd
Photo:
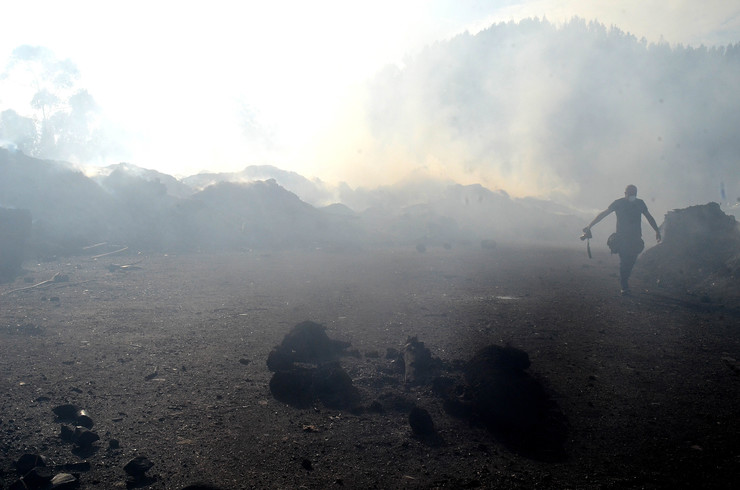
<svg viewBox="0 0 740 490">
<path fill-rule="evenodd" d="M 272 164 L 351 185 L 363 182 L 343 171 L 353 151 L 343 142 L 360 129 L 336 121 L 352 111 L 353 87 L 436 40 L 578 16 L 648 42 L 740 41 L 737 0 L 25 0 L 2 10 L 0 62 L 30 44 L 76 63 L 81 86 L 132 136 L 130 163 L 178 176 Z"/>
</svg>

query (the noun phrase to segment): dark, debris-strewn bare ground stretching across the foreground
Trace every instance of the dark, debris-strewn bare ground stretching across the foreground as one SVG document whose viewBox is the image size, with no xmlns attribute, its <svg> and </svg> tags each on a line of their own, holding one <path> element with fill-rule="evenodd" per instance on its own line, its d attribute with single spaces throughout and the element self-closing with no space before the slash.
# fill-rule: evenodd
<svg viewBox="0 0 740 490">
<path fill-rule="evenodd" d="M 740 305 L 636 280 L 634 296 L 620 297 L 617 259 L 594 253 L 471 246 L 25 264 L 27 279 L 0 285 L 0 481 L 9 487 L 14 462 L 37 453 L 48 466 L 89 461 L 75 472 L 80 488 L 125 487 L 122 468 L 137 455 L 154 463 L 142 486 L 168 489 L 734 487 Z M 8 293 L 57 272 L 69 281 Z M 272 397 L 267 355 L 303 320 L 352 343 L 342 365 L 362 403 L 382 411 Z M 568 419 L 567 458 L 517 454 L 446 414 L 428 386 L 404 388 L 385 352 L 411 335 L 445 361 L 491 343 L 526 351 Z M 89 450 L 60 439 L 52 409 L 64 403 L 94 420 L 100 441 Z M 414 403 L 431 413 L 434 443 L 412 437 Z"/>
</svg>

